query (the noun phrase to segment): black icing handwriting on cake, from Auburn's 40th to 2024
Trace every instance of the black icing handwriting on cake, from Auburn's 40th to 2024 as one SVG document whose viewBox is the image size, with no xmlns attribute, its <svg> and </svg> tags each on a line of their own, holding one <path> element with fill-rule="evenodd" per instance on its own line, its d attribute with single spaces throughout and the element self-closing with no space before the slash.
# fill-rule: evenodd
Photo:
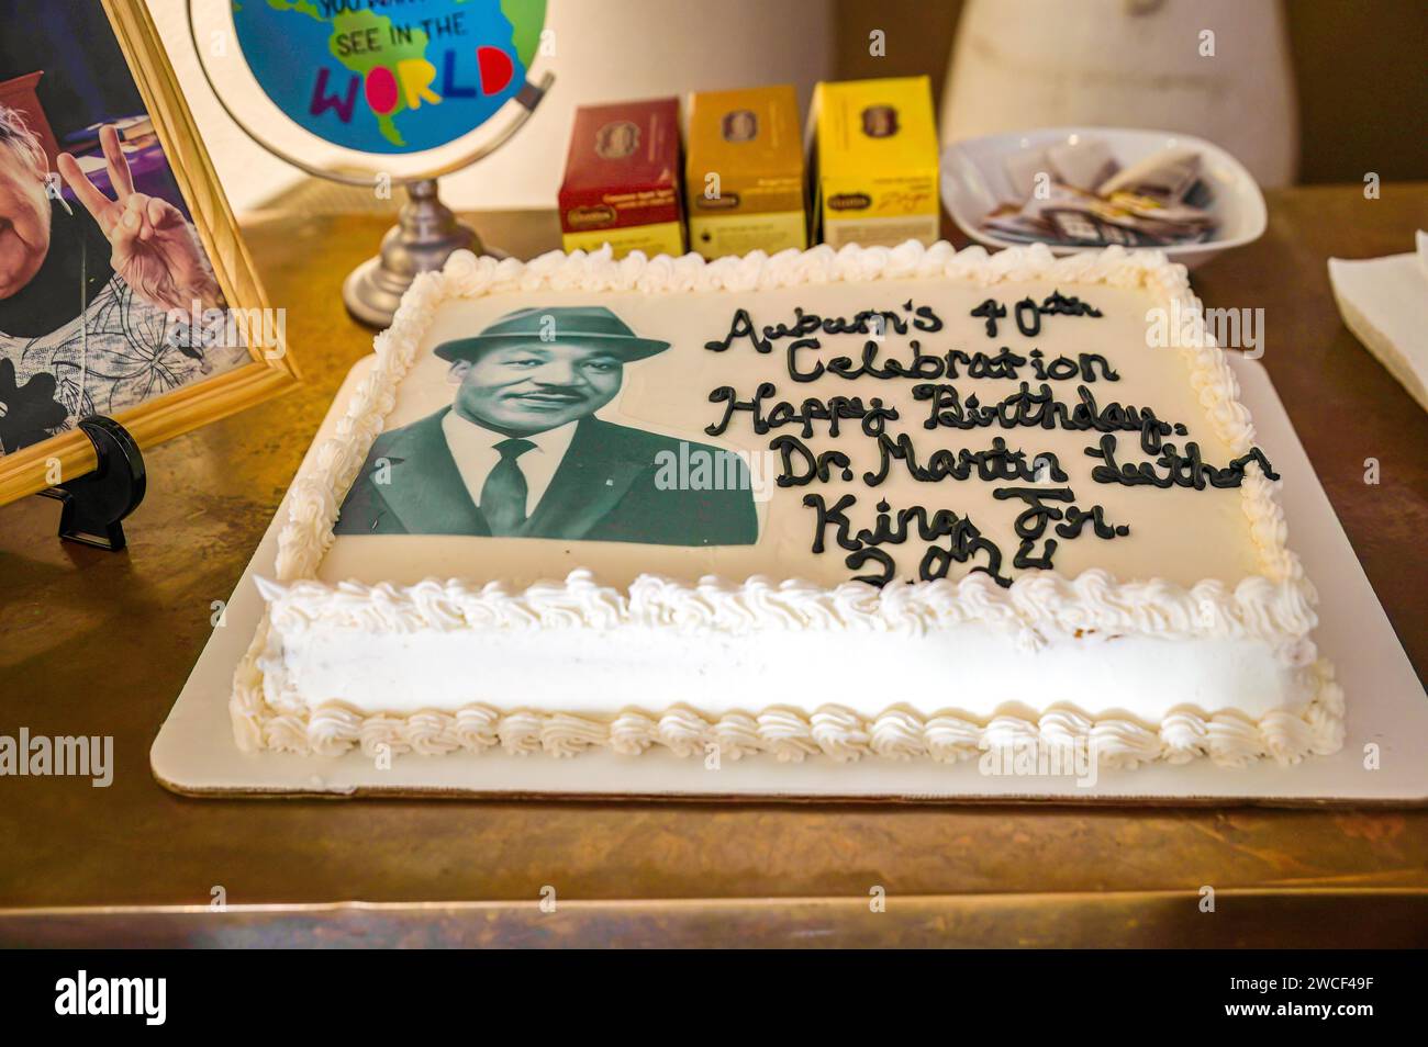
<svg viewBox="0 0 1428 1047">
<path fill-rule="evenodd" d="M 1008 308 L 988 298 L 971 315 L 984 321 L 987 335 L 995 338 L 1004 330 L 1001 324 L 1008 318 Z M 1092 305 L 1060 291 L 1040 302 L 1022 298 L 1011 310 L 1017 331 L 1027 338 L 1035 338 L 1044 324 L 1052 322 L 1044 317 L 1100 315 Z M 704 431 L 718 436 L 738 421 L 765 439 L 777 434 L 768 439 L 768 448 L 778 455 L 781 471 L 775 481 L 780 488 L 858 481 L 868 489 L 883 489 L 894 474 L 905 474 L 917 484 L 991 484 L 995 499 L 1021 504 L 1011 525 L 1017 548 L 1010 556 L 1010 568 L 1015 571 L 1054 569 L 1061 543 L 1090 538 L 1112 541 L 1130 535 L 1131 528 L 1110 521 L 1102 505 L 1078 505 L 1071 478 L 1054 452 L 1012 446 L 1008 438 L 991 434 L 990 439 L 967 438 L 981 446 L 945 446 L 935 438 L 932 446 L 918 446 L 915 432 L 991 428 L 1095 434 L 1087 436 L 1095 444 L 1085 448 L 1085 455 L 1098 459 L 1091 468 L 1097 484 L 1197 491 L 1234 488 L 1244 482 L 1251 462 L 1269 479 L 1278 479 L 1259 448 L 1217 466 L 1204 461 L 1185 424 L 1161 419 L 1150 407 L 1098 398 L 1092 391 L 1097 382 L 1121 379 L 1100 352 L 1048 355 L 1037 347 L 1018 352 L 1001 345 L 992 352 L 928 345 L 927 337 L 942 330 L 935 310 L 911 298 L 894 310 L 863 310 L 851 315 L 820 315 L 794 307 L 790 320 L 764 327 L 755 324 L 748 310 L 735 310 L 728 332 L 718 341 L 705 342 L 708 349 L 724 352 L 737 341 L 748 341 L 757 352 L 770 354 L 777 344 L 784 349 L 790 379 L 798 385 L 828 375 L 847 381 L 908 381 L 908 392 L 927 407 L 927 414 L 914 432 L 897 432 L 890 422 L 898 421 L 898 409 L 881 398 L 808 395 L 784 399 L 775 384 L 765 381 L 747 398 L 733 385 L 710 391 L 708 402 L 718 407 L 720 417 Z M 907 338 L 908 334 L 914 337 Z M 861 347 L 857 352 L 850 348 L 825 359 L 821 338 L 831 335 L 861 338 Z M 890 347 L 888 335 L 901 335 L 902 341 Z M 1007 394 L 1007 387 L 992 387 L 995 394 L 985 394 L 984 389 L 984 402 L 962 384 L 987 381 L 1008 382 L 1015 391 Z M 1098 388 L 1105 397 L 1104 387 Z M 1125 458 L 1132 454 L 1127 449 L 1130 445 L 1118 442 L 1122 432 L 1135 435 L 1141 449 L 1135 461 Z M 858 434 L 870 441 L 858 446 L 877 454 L 877 462 L 858 472 L 843 449 L 818 445 L 818 436 L 855 439 Z M 1008 558 L 1002 548 L 970 516 L 960 514 L 960 506 L 894 506 L 878 501 L 868 512 L 854 494 L 805 494 L 803 505 L 814 515 L 813 552 L 843 551 L 844 565 L 854 572 L 855 581 L 881 586 L 900 573 L 935 581 L 948 578 L 962 565 L 987 573 L 998 585 L 1011 583 L 1004 572 Z M 898 552 L 910 543 L 907 553 Z M 904 566 L 912 566 L 915 559 L 915 572 L 898 571 L 902 556 L 907 558 Z"/>
</svg>

